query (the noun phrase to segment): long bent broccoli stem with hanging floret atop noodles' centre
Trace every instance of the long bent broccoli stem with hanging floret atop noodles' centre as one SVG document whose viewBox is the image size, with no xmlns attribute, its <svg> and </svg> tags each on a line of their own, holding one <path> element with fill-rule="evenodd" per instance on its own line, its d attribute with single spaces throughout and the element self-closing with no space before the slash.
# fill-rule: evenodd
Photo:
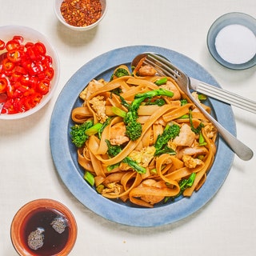
<svg viewBox="0 0 256 256">
<path fill-rule="evenodd" d="M 142 134 L 142 125 L 137 122 L 139 106 L 146 100 L 146 98 L 154 98 L 156 96 L 173 97 L 174 93 L 162 88 L 159 88 L 158 90 L 150 90 L 143 94 L 136 94 L 134 96 L 134 101 L 131 102 L 131 104 L 126 102 L 126 100 L 120 96 L 122 105 L 127 108 L 128 112 L 120 110 L 117 107 L 112 107 L 114 114 L 123 118 L 123 122 L 126 124 L 126 135 L 130 140 L 135 141 Z"/>
</svg>

